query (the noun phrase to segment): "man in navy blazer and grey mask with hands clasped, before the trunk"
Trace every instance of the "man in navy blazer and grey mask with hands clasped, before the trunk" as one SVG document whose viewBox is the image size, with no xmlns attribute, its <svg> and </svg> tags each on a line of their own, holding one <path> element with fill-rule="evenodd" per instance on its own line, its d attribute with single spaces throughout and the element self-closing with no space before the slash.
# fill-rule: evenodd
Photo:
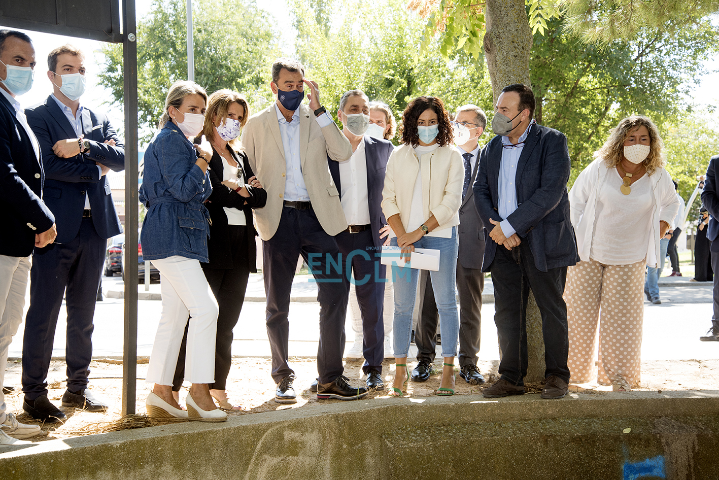
<svg viewBox="0 0 719 480">
<path fill-rule="evenodd" d="M 514 84 L 497 99 L 492 129 L 475 180 L 485 226 L 483 272 L 492 272 L 501 378 L 485 397 L 524 393 L 529 289 L 542 318 L 546 385 L 542 398 L 567 394 L 569 338 L 562 300 L 567 266 L 579 261 L 569 221 L 567 137 L 536 124 L 531 88 Z"/>
</svg>

